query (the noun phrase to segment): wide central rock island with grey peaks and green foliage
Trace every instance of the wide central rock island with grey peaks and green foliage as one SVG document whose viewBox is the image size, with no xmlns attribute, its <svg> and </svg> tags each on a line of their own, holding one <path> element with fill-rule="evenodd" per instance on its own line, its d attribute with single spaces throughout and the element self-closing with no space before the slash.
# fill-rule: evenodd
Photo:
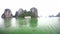
<svg viewBox="0 0 60 34">
<path fill-rule="evenodd" d="M 16 11 L 15 17 L 25 17 L 25 16 L 31 16 L 31 17 L 38 17 L 38 12 L 36 8 L 31 8 L 30 11 L 19 9 Z"/>
</svg>

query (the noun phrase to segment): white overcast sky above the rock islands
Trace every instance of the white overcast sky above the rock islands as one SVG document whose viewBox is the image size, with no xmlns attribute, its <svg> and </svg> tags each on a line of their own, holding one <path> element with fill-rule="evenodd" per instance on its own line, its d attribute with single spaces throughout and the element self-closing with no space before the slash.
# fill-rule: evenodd
<svg viewBox="0 0 60 34">
<path fill-rule="evenodd" d="M 60 0 L 0 0 L 0 14 L 6 8 L 11 9 L 15 14 L 19 8 L 29 11 L 32 7 L 38 9 L 39 16 L 56 15 L 60 12 Z"/>
</svg>

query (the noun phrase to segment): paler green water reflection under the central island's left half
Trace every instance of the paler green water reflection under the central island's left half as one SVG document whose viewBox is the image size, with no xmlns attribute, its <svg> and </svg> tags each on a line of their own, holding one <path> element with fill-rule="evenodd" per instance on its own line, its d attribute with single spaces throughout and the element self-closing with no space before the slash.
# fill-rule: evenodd
<svg viewBox="0 0 60 34">
<path fill-rule="evenodd" d="M 18 23 L 19 27 L 28 27 L 29 26 L 29 19 L 16 18 L 16 22 Z"/>
</svg>

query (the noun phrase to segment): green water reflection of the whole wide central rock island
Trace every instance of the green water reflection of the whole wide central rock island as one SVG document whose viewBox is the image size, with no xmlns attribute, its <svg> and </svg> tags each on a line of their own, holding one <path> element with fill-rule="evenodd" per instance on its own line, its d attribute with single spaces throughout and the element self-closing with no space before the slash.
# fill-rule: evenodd
<svg viewBox="0 0 60 34">
<path fill-rule="evenodd" d="M 36 27 L 37 18 L 17 18 L 16 22 L 19 24 L 19 27 Z"/>
</svg>

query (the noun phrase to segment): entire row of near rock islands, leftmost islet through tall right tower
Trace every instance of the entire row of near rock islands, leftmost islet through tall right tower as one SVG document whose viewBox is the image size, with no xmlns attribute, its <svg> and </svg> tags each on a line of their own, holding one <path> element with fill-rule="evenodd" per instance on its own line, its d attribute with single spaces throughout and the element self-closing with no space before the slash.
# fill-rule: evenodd
<svg viewBox="0 0 60 34">
<path fill-rule="evenodd" d="M 33 7 L 30 9 L 30 11 L 23 10 L 22 8 L 16 11 L 15 15 L 12 14 L 10 9 L 5 9 L 4 13 L 2 14 L 2 18 L 12 18 L 12 17 L 21 17 L 24 18 L 25 16 L 31 16 L 31 17 L 38 17 L 37 8 Z"/>
</svg>

